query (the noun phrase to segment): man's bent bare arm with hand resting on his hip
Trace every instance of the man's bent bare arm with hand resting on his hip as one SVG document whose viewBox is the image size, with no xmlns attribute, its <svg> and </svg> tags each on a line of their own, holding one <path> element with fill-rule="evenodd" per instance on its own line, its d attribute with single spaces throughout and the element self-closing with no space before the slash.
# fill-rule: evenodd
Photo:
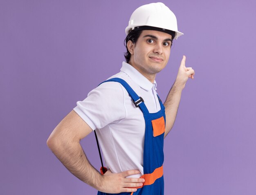
<svg viewBox="0 0 256 195">
<path fill-rule="evenodd" d="M 138 170 L 127 170 L 122 173 L 101 175 L 88 161 L 80 140 L 92 129 L 79 115 L 72 110 L 56 126 L 47 140 L 47 146 L 61 163 L 81 181 L 105 193 L 134 192 L 144 179 L 125 178 L 139 174 Z"/>
</svg>

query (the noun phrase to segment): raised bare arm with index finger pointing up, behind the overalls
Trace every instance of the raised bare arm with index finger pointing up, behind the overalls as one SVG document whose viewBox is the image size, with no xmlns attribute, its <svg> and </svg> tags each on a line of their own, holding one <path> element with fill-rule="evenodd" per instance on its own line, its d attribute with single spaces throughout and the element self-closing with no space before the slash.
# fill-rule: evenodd
<svg viewBox="0 0 256 195">
<path fill-rule="evenodd" d="M 175 122 L 177 110 L 180 104 L 182 90 L 185 87 L 186 81 L 189 78 L 194 78 L 195 71 L 192 69 L 192 67 L 186 67 L 185 62 L 186 56 L 183 56 L 176 80 L 173 86 L 171 87 L 170 92 L 168 93 L 166 101 L 164 102 L 166 115 L 164 138 L 170 132 Z"/>
</svg>

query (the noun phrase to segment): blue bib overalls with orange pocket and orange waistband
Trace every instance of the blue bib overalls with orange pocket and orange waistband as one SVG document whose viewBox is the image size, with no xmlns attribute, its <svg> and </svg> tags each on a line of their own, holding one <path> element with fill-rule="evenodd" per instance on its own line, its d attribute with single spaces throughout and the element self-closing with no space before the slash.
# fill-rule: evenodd
<svg viewBox="0 0 256 195">
<path fill-rule="evenodd" d="M 115 81 L 121 83 L 131 96 L 133 103 L 143 112 L 146 130 L 144 139 L 143 170 L 145 179 L 144 185 L 137 188 L 133 193 L 119 193 L 118 195 L 164 195 L 164 131 L 165 131 L 165 110 L 162 101 L 159 99 L 161 110 L 149 113 L 141 97 L 121 78 L 111 78 L 104 82 Z M 102 82 L 102 83 L 104 83 Z M 98 192 L 98 195 L 110 195 Z M 111 194 L 114 195 L 114 194 Z M 117 195 L 117 194 L 116 194 Z"/>
</svg>

